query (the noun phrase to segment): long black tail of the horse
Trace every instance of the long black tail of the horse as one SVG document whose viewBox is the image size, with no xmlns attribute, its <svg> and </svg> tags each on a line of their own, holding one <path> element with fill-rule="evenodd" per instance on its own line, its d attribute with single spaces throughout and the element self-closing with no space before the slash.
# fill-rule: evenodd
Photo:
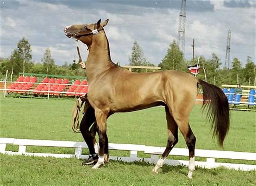
<svg viewBox="0 0 256 186">
<path fill-rule="evenodd" d="M 223 91 L 203 80 L 198 80 L 203 87 L 203 110 L 207 110 L 207 118 L 211 122 L 213 137 L 218 136 L 218 142 L 223 147 L 223 141 L 229 131 L 229 102 Z"/>
</svg>

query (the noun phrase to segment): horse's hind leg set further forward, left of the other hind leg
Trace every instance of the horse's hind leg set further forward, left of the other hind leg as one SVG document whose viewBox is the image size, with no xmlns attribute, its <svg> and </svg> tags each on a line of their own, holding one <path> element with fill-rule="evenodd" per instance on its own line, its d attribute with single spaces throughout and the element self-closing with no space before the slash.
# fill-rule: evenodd
<svg viewBox="0 0 256 186">
<path fill-rule="evenodd" d="M 174 145 L 178 143 L 178 126 L 174 118 L 170 114 L 167 106 L 165 106 L 165 113 L 166 113 L 166 120 L 167 120 L 168 139 L 167 139 L 166 149 L 162 154 L 162 157 L 158 160 L 158 162 L 156 163 L 155 167 L 152 170 L 153 172 L 156 172 L 156 173 L 158 173 L 158 169 L 162 167 L 165 159 L 171 152 Z"/>
</svg>

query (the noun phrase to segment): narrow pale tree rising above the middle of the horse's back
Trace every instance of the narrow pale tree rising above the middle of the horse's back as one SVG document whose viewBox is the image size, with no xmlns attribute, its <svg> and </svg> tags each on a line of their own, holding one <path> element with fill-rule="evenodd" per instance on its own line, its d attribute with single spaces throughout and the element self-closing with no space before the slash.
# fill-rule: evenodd
<svg viewBox="0 0 256 186">
<path fill-rule="evenodd" d="M 132 54 L 129 56 L 130 65 L 134 66 L 150 66 L 152 64 L 148 63 L 146 58 L 144 57 L 142 48 L 139 46 L 137 41 L 134 41 L 133 48 L 132 48 Z M 143 69 L 132 69 L 136 72 L 142 72 Z"/>
</svg>

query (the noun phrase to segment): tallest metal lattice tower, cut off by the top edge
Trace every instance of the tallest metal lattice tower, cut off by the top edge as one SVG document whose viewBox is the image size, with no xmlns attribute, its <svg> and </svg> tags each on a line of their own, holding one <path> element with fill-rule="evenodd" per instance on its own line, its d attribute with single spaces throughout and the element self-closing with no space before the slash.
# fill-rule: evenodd
<svg viewBox="0 0 256 186">
<path fill-rule="evenodd" d="M 178 46 L 185 56 L 185 21 L 186 21 L 186 0 L 182 0 L 179 15 Z"/>
</svg>

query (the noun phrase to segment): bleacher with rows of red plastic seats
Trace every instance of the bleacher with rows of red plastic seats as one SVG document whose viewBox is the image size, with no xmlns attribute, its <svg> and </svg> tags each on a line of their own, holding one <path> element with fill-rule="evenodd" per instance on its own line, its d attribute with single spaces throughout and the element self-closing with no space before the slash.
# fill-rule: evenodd
<svg viewBox="0 0 256 186">
<path fill-rule="evenodd" d="M 53 76 L 53 75 L 51 75 Z M 72 76 L 71 76 L 72 77 Z M 68 78 L 50 78 L 45 77 L 41 82 L 35 76 L 19 76 L 15 82 L 7 86 L 8 95 L 23 96 L 80 96 L 88 92 L 88 83 L 86 80 L 69 80 Z"/>
</svg>

